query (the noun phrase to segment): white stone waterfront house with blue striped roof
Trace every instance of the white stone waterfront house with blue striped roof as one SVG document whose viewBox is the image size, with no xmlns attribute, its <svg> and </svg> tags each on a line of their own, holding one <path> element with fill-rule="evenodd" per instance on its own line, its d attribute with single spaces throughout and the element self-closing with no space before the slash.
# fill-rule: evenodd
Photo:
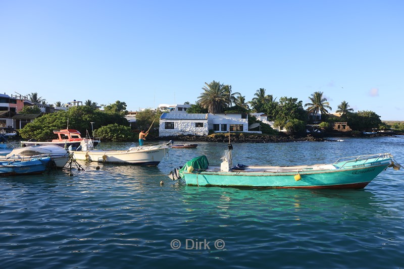
<svg viewBox="0 0 404 269">
<path fill-rule="evenodd" d="M 163 113 L 160 117 L 160 136 L 176 135 L 208 135 L 209 131 L 221 132 L 250 132 L 248 131 L 247 114 L 178 114 Z"/>
</svg>

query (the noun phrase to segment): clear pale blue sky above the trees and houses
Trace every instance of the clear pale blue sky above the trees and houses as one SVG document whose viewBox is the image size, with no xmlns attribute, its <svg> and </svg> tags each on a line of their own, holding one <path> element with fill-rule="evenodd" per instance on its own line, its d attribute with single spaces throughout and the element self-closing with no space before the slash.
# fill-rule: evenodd
<svg viewBox="0 0 404 269">
<path fill-rule="evenodd" d="M 404 121 L 404 1 L 0 0 L 0 93 L 195 103 L 205 83 Z"/>
</svg>

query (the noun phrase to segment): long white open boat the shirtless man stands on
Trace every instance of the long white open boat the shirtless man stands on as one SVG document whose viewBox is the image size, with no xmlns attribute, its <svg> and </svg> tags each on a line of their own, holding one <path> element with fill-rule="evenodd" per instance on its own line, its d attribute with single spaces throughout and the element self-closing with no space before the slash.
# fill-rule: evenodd
<svg viewBox="0 0 404 269">
<path fill-rule="evenodd" d="M 75 159 L 90 162 L 157 166 L 169 149 L 168 143 L 162 143 L 131 147 L 127 150 L 84 149 L 72 152 Z"/>
</svg>

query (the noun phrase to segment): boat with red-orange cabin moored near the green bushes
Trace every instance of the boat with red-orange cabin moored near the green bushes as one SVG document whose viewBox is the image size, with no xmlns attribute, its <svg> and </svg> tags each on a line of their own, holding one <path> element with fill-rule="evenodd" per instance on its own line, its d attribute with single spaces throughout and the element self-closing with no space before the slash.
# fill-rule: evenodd
<svg viewBox="0 0 404 269">
<path fill-rule="evenodd" d="M 39 142 L 35 139 L 30 139 L 28 141 L 21 141 L 22 146 L 34 146 L 34 145 L 57 145 L 61 147 L 68 148 L 71 146 L 73 149 L 76 149 L 81 141 L 91 140 L 93 146 L 96 146 L 100 140 L 98 138 L 84 138 L 81 137 L 81 133 L 75 129 L 63 129 L 63 130 L 54 130 L 54 134 L 58 135 L 58 139 L 53 139 L 52 141 L 47 142 Z"/>
</svg>

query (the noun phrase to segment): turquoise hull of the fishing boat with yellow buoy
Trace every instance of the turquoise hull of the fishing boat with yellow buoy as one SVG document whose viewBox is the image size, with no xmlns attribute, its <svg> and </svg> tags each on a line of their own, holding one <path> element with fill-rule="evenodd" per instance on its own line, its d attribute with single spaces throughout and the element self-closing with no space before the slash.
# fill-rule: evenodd
<svg viewBox="0 0 404 269">
<path fill-rule="evenodd" d="M 213 168 L 205 172 L 184 172 L 184 177 L 186 184 L 191 186 L 360 189 L 366 187 L 390 164 L 391 159 L 384 157 L 348 165 L 335 164 L 333 169 L 321 171 L 313 171 L 313 168 L 312 171 L 304 169 L 292 171 L 291 167 L 290 172 L 254 171 L 254 169 L 220 172 L 220 168 Z M 297 174 L 299 176 L 296 180 Z"/>
</svg>

